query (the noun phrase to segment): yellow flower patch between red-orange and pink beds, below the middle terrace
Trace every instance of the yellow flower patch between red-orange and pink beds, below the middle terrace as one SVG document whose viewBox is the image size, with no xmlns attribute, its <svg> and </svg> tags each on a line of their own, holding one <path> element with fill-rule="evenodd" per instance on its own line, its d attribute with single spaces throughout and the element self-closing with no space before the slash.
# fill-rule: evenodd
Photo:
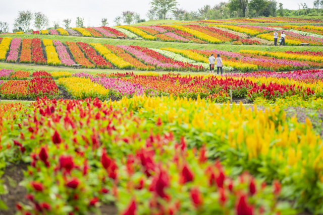
<svg viewBox="0 0 323 215">
<path fill-rule="evenodd" d="M 74 99 L 86 99 L 88 97 L 99 99 L 109 98 L 109 90 L 102 85 L 92 82 L 86 78 L 59 78 L 58 85 L 63 86 Z"/>
</svg>

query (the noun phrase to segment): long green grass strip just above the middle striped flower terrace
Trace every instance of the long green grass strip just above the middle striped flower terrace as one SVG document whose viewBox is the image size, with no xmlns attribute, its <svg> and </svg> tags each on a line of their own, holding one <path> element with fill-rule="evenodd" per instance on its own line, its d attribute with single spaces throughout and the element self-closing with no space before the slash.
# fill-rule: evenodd
<svg viewBox="0 0 323 215">
<path fill-rule="evenodd" d="M 12 35 L 1 35 L 2 37 L 20 37 L 20 38 L 41 38 L 60 40 L 62 42 L 86 42 L 86 43 L 101 43 L 111 45 L 138 45 L 147 48 L 165 48 L 172 47 L 178 49 L 218 49 L 225 51 L 238 52 L 241 49 L 249 50 L 268 50 L 268 46 L 248 46 L 248 45 L 229 45 L 229 44 L 196 44 L 196 43 L 180 43 L 180 42 L 159 42 L 159 41 L 148 41 L 148 40 L 120 40 L 120 39 L 103 39 L 93 37 L 75 37 L 75 36 L 51 36 L 51 35 L 29 35 L 29 34 L 12 34 Z M 321 46 L 270 46 L 270 51 L 321 51 Z"/>
</svg>

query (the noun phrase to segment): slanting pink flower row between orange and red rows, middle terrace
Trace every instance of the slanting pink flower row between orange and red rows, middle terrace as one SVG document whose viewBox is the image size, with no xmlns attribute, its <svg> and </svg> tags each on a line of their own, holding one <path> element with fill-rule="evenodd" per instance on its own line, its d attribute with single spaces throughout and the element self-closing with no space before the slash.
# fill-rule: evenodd
<svg viewBox="0 0 323 215">
<path fill-rule="evenodd" d="M 148 56 L 144 52 L 138 51 L 132 47 L 129 47 L 126 45 L 117 45 L 117 47 L 122 48 L 123 50 L 134 55 L 136 58 L 141 59 L 142 61 L 144 61 L 147 64 L 155 65 L 155 66 L 161 67 L 161 68 L 180 68 L 180 66 L 178 64 L 162 63 L 162 62 L 156 60 L 155 58 Z"/>
</svg>

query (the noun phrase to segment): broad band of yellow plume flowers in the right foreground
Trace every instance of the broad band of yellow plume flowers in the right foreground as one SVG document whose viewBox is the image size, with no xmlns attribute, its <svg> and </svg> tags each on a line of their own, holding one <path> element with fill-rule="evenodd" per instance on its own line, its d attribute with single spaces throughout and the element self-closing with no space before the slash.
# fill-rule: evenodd
<svg viewBox="0 0 323 215">
<path fill-rule="evenodd" d="M 254 106 L 251 111 L 242 104 L 218 106 L 199 98 L 192 101 L 136 96 L 111 104 L 135 111 L 139 117 L 171 123 L 170 130 L 194 139 L 188 145 L 206 144 L 220 153 L 217 156 L 226 158 L 226 166 L 249 170 L 269 180 L 278 177 L 284 185 L 297 186 L 302 200 L 313 194 L 308 186 L 321 189 L 322 140 L 313 132 L 309 120 L 303 124 L 296 118 L 286 119 L 278 106 L 264 111 Z M 194 133 L 198 140 L 191 136 Z"/>
</svg>

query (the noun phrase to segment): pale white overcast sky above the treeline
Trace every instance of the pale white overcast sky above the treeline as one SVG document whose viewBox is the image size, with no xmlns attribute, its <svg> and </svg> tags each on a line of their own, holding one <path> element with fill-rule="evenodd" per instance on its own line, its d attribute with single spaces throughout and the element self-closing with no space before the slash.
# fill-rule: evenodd
<svg viewBox="0 0 323 215">
<path fill-rule="evenodd" d="M 223 0 L 177 0 L 179 7 L 187 11 L 197 11 L 204 5 L 216 5 Z M 297 10 L 297 3 L 306 2 L 310 8 L 314 0 L 278 0 L 284 4 L 284 8 Z M 1 1 L 0 21 L 10 24 L 10 31 L 13 29 L 14 19 L 18 11 L 31 10 L 42 12 L 50 20 L 49 27 L 53 27 L 53 21 L 60 21 L 63 27 L 64 19 L 72 19 L 72 27 L 75 27 L 76 17 L 84 17 L 85 26 L 100 26 L 101 18 L 107 18 L 109 25 L 113 26 L 115 17 L 120 16 L 122 11 L 133 11 L 139 13 L 141 19 L 146 19 L 146 13 L 150 8 L 151 0 L 11 0 Z M 33 24 L 31 28 L 34 28 Z"/>
</svg>

